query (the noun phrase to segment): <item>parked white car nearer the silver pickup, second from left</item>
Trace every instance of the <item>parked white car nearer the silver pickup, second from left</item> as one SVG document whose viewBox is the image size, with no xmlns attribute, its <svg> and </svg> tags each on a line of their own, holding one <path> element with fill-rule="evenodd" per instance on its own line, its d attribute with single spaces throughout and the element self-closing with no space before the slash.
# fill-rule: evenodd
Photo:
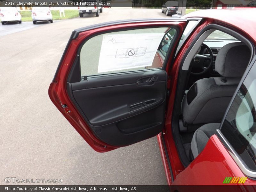
<svg viewBox="0 0 256 192">
<path fill-rule="evenodd" d="M 34 24 L 36 21 L 50 21 L 52 23 L 52 13 L 48 7 L 34 7 L 31 17 Z"/>
</svg>

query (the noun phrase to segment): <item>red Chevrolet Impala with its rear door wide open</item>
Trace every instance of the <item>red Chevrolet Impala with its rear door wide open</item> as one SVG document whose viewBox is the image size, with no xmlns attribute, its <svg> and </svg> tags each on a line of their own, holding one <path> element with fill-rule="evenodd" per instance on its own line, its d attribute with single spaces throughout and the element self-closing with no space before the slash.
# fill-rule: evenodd
<svg viewBox="0 0 256 192">
<path fill-rule="evenodd" d="M 256 184 L 256 9 L 73 31 L 49 96 L 98 152 L 157 135 L 169 185 Z"/>
</svg>

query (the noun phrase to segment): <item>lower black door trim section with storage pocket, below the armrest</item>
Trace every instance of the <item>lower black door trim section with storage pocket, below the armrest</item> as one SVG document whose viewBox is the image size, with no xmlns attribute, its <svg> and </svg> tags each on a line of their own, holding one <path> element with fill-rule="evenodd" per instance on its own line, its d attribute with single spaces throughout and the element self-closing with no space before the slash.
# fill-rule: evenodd
<svg viewBox="0 0 256 192">
<path fill-rule="evenodd" d="M 165 105 L 116 123 L 92 127 L 97 137 L 113 146 L 126 146 L 157 135 L 164 126 Z"/>
</svg>

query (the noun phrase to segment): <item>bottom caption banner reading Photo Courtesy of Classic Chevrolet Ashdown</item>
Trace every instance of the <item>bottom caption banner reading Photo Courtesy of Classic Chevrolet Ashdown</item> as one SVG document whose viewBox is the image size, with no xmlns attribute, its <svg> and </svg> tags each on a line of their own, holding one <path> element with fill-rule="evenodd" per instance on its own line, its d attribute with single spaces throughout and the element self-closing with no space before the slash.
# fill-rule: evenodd
<svg viewBox="0 0 256 192">
<path fill-rule="evenodd" d="M 244 186 L 244 185 L 222 185 L 222 186 L 155 186 L 155 185 L 99 185 L 99 186 L 90 186 L 90 185 L 9 185 L 9 186 L 0 186 L 1 192 L 124 192 L 124 191 L 136 191 L 136 192 L 216 192 L 216 191 L 225 191 L 225 192 L 251 192 L 256 191 L 255 186 Z"/>
</svg>

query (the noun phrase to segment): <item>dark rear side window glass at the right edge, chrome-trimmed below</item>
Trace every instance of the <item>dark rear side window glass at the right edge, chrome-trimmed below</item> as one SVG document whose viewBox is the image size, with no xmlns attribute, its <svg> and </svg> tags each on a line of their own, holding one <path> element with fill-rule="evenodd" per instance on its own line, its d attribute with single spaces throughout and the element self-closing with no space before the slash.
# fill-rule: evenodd
<svg viewBox="0 0 256 192">
<path fill-rule="evenodd" d="M 256 171 L 256 65 L 236 94 L 221 132 L 244 161 Z"/>
</svg>

